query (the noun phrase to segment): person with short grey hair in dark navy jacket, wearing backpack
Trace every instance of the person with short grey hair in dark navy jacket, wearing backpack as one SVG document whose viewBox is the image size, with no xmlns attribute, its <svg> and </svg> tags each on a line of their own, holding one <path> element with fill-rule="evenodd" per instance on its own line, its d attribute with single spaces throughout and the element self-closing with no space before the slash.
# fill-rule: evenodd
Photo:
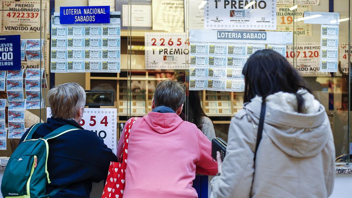
<svg viewBox="0 0 352 198">
<path fill-rule="evenodd" d="M 81 122 L 86 93 L 77 83 L 64 83 L 48 92 L 51 118 L 34 131 L 32 138 L 45 137 L 64 125 L 72 125 L 72 130 L 49 140 L 48 172 L 50 184 L 46 193 L 58 186 L 66 186 L 50 198 L 88 198 L 92 182 L 106 179 L 111 161 L 117 161 L 115 154 L 98 137 L 96 132 L 84 130 Z M 24 141 L 31 128 L 22 136 Z"/>
</svg>

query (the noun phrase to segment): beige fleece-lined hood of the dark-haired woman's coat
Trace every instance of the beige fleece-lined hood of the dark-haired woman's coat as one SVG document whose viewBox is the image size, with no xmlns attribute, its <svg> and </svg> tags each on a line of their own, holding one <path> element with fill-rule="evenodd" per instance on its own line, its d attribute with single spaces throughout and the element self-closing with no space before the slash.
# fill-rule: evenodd
<svg viewBox="0 0 352 198">
<path fill-rule="evenodd" d="M 326 128 L 330 124 L 324 106 L 312 94 L 303 89 L 297 93 L 304 98 L 303 113 L 297 112 L 295 94 L 278 92 L 265 99 L 264 131 L 286 154 L 293 157 L 312 157 L 320 153 L 328 142 L 331 134 Z M 244 107 L 257 122 L 261 105 L 262 98 L 255 97 Z"/>
</svg>

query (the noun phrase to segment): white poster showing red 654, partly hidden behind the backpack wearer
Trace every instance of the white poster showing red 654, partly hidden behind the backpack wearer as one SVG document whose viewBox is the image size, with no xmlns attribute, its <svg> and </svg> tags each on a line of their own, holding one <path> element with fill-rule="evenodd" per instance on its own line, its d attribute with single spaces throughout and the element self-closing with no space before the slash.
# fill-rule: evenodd
<svg viewBox="0 0 352 198">
<path fill-rule="evenodd" d="M 50 107 L 46 108 L 46 118 L 51 117 Z M 117 109 L 86 108 L 79 123 L 83 129 L 95 132 L 104 143 L 116 154 L 117 134 L 119 128 L 116 122 Z"/>
</svg>

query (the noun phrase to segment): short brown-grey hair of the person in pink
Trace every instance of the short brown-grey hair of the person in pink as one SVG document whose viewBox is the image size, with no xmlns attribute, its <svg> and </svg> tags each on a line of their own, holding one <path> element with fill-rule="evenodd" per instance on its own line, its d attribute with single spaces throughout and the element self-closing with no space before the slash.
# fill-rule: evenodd
<svg viewBox="0 0 352 198">
<path fill-rule="evenodd" d="M 154 103 L 157 106 L 166 106 L 174 111 L 186 100 L 185 87 L 176 80 L 163 80 L 158 83 L 154 91 Z"/>
</svg>

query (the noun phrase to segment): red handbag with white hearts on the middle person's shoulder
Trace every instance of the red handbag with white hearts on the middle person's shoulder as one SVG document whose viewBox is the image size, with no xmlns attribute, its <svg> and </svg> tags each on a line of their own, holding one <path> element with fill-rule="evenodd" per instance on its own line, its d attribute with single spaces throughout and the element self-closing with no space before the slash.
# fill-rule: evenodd
<svg viewBox="0 0 352 198">
<path fill-rule="evenodd" d="M 122 150 L 120 162 L 110 162 L 108 177 L 101 198 L 121 198 L 125 190 L 127 148 L 130 130 L 137 117 L 132 118 L 125 127 L 124 149 Z M 122 142 L 121 142 L 122 143 Z"/>
</svg>

